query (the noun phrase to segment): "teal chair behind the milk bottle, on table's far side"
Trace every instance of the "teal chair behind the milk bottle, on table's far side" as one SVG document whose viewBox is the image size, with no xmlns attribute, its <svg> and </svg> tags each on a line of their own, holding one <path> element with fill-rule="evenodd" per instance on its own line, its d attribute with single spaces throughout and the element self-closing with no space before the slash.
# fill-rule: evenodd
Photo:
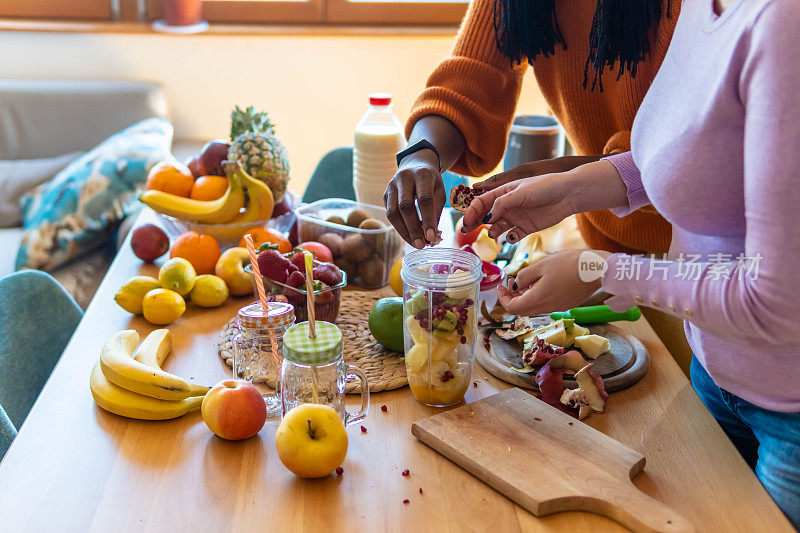
<svg viewBox="0 0 800 533">
<path fill-rule="evenodd" d="M 444 190 L 450 197 L 450 189 L 460 184 L 467 184 L 464 176 L 453 172 L 442 173 Z M 310 204 L 325 198 L 346 198 L 355 200 L 353 189 L 353 147 L 345 146 L 331 150 L 320 159 L 317 168 L 308 181 L 303 193 L 303 203 Z"/>
</svg>

